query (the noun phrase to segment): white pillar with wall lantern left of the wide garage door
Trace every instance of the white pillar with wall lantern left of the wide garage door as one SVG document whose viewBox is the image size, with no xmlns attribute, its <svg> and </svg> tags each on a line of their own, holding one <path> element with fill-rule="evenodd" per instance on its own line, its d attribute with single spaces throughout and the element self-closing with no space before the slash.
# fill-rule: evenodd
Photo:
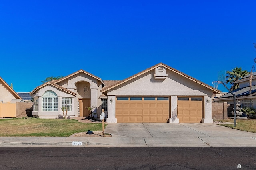
<svg viewBox="0 0 256 170">
<path fill-rule="evenodd" d="M 107 123 L 117 123 L 117 119 L 116 119 L 116 96 L 108 96 Z"/>
</svg>

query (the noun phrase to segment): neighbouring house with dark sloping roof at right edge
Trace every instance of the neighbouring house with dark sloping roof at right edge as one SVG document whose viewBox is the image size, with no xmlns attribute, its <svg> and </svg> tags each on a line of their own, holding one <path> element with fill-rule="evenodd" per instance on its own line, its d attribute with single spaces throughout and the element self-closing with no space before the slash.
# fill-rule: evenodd
<svg viewBox="0 0 256 170">
<path fill-rule="evenodd" d="M 239 104 L 241 104 L 240 107 L 256 108 L 256 72 L 253 73 L 251 93 L 249 78 L 250 75 L 247 75 L 234 82 L 239 83 L 239 88 L 233 90 L 232 93 L 236 94 L 236 100 L 238 99 Z M 233 95 L 229 92 L 214 99 L 214 102 L 227 102 L 228 104 L 234 104 Z"/>
</svg>

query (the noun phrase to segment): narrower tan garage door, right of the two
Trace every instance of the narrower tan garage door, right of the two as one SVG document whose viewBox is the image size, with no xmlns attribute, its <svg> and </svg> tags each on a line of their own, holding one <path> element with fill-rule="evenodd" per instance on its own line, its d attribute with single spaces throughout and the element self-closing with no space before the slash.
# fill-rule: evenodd
<svg viewBox="0 0 256 170">
<path fill-rule="evenodd" d="M 202 98 L 178 97 L 180 123 L 200 123 L 202 121 Z"/>
</svg>

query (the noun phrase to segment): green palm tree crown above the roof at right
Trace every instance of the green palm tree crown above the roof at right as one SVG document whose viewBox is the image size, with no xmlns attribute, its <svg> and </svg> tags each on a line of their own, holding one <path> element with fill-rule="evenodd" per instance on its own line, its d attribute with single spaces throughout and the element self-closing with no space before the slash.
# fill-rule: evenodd
<svg viewBox="0 0 256 170">
<path fill-rule="evenodd" d="M 234 83 L 235 81 L 240 80 L 242 77 L 249 74 L 247 70 L 242 71 L 241 67 L 236 67 L 232 69 L 232 71 L 227 71 L 226 73 L 228 74 L 228 76 L 226 76 L 226 83 L 231 84 L 231 91 L 239 88 L 239 83 Z"/>
</svg>

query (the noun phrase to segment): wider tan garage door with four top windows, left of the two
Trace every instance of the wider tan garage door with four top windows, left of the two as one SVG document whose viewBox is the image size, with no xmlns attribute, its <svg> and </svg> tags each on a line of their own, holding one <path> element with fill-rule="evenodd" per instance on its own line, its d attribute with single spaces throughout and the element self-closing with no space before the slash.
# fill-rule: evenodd
<svg viewBox="0 0 256 170">
<path fill-rule="evenodd" d="M 167 122 L 168 97 L 117 97 L 117 122 Z"/>
</svg>

